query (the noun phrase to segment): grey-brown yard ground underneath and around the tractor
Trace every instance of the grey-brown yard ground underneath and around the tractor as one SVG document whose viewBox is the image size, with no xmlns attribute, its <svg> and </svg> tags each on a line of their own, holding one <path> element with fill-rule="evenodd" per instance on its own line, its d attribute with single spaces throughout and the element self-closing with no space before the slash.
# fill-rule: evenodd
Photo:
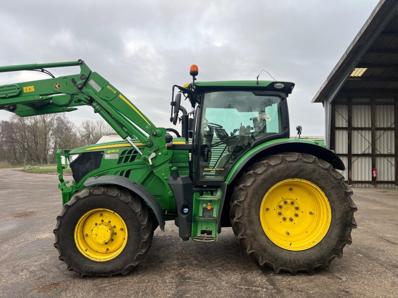
<svg viewBox="0 0 398 298">
<path fill-rule="evenodd" d="M 313 276 L 259 267 L 231 228 L 218 243 L 184 242 L 169 222 L 131 274 L 81 279 L 53 247 L 57 185 L 57 175 L 0 169 L 0 297 L 398 297 L 398 189 L 353 189 L 353 244 Z"/>
</svg>

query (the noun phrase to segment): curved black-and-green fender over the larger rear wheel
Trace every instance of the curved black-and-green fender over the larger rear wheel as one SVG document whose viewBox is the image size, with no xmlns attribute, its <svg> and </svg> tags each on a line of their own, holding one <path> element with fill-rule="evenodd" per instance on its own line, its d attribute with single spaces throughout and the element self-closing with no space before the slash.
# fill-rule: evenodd
<svg viewBox="0 0 398 298">
<path fill-rule="evenodd" d="M 335 169 L 344 170 L 345 165 L 340 157 L 322 145 L 323 143 L 321 142 L 298 139 L 279 139 L 261 144 L 253 149 L 250 149 L 240 157 L 240 159 L 233 165 L 231 171 L 225 179 L 225 183 L 231 183 L 236 177 L 238 177 L 244 168 L 253 163 L 254 160 L 283 152 L 311 154 L 330 163 Z"/>
</svg>

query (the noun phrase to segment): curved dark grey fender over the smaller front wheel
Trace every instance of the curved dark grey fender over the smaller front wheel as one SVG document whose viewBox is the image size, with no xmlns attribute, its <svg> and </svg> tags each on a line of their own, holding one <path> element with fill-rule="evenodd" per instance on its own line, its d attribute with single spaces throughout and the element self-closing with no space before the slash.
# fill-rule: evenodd
<svg viewBox="0 0 398 298">
<path fill-rule="evenodd" d="M 113 176 L 113 175 L 105 175 L 100 177 L 88 178 L 84 182 L 84 186 L 94 186 L 94 185 L 102 185 L 102 184 L 113 184 L 119 185 L 121 187 L 127 188 L 135 193 L 137 196 L 141 197 L 146 204 L 152 209 L 153 213 L 158 220 L 159 227 L 164 230 L 165 229 L 165 219 L 163 216 L 162 209 L 158 201 L 156 201 L 155 197 L 141 184 L 130 180 L 126 177 L 121 176 Z"/>
</svg>

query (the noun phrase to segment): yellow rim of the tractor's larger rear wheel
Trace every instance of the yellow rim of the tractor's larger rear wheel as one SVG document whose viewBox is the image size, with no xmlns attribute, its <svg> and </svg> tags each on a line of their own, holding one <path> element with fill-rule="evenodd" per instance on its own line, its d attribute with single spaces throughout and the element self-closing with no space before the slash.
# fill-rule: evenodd
<svg viewBox="0 0 398 298">
<path fill-rule="evenodd" d="M 260 220 L 267 237 L 287 250 L 305 250 L 326 235 L 332 212 L 329 200 L 315 184 L 287 179 L 265 194 Z"/>
</svg>

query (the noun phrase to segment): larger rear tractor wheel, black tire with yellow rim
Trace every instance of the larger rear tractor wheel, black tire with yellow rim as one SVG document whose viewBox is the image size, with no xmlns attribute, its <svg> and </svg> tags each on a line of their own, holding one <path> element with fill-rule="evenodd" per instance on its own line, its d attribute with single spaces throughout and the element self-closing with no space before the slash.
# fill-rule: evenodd
<svg viewBox="0 0 398 298">
<path fill-rule="evenodd" d="M 312 155 L 283 153 L 253 164 L 232 195 L 232 229 L 261 266 L 296 274 L 326 268 L 351 244 L 357 210 L 332 166 Z"/>
</svg>

